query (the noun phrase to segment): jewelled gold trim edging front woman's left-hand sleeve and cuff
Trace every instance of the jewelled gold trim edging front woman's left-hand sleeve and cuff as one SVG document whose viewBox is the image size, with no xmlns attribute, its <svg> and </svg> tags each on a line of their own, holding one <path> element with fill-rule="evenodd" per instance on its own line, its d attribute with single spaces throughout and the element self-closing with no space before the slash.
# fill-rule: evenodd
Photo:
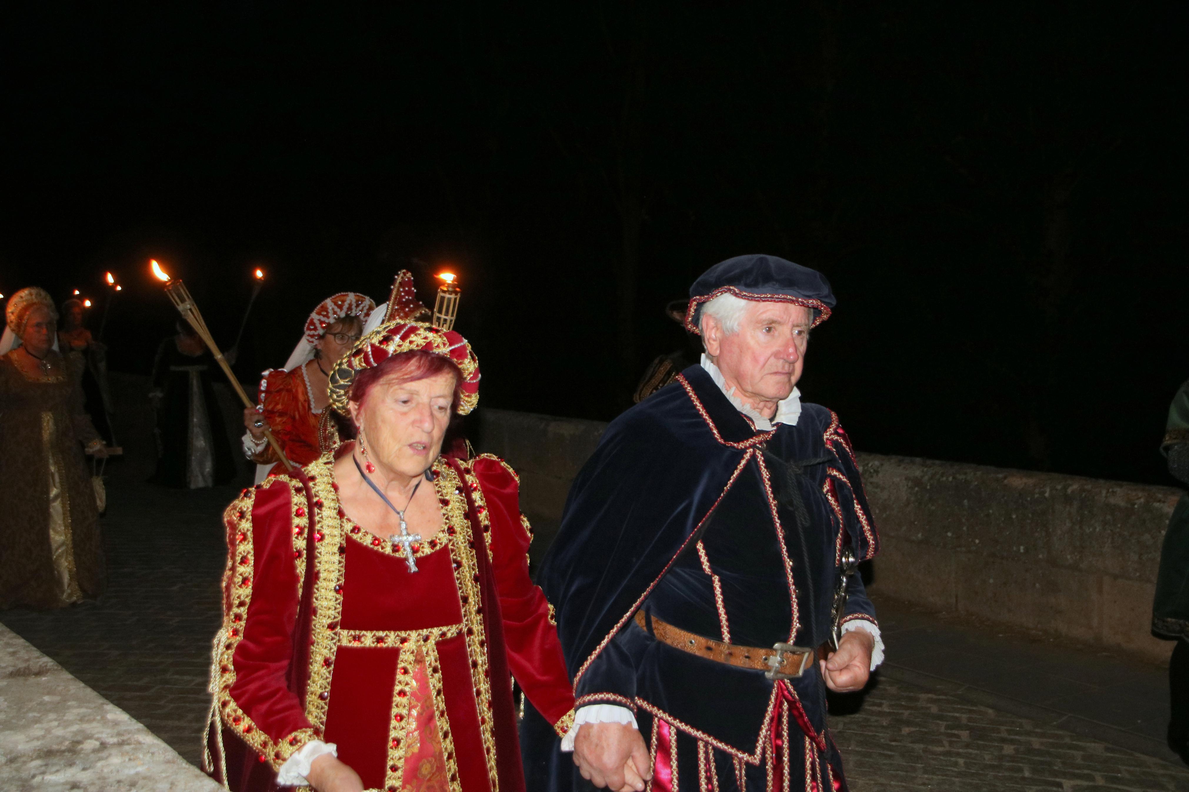
<svg viewBox="0 0 1189 792">
<path fill-rule="evenodd" d="M 252 601 L 252 577 L 254 575 L 254 557 L 252 549 L 252 506 L 258 489 L 265 489 L 276 483 L 289 487 L 290 506 L 298 499 L 304 501 L 304 489 L 301 483 L 289 476 L 272 476 L 257 488 L 244 490 L 224 512 L 224 522 L 228 528 L 227 566 L 224 571 L 224 591 L 226 615 L 224 625 L 215 635 L 212 660 L 213 691 L 220 720 L 258 753 L 272 769 L 281 766 L 310 740 L 320 736 L 316 729 L 298 729 L 279 740 L 272 740 L 262 731 L 243 709 L 232 699 L 231 689 L 235 684 L 234 655 L 239 642 L 244 640 L 244 626 L 247 619 L 247 607 Z"/>
</svg>

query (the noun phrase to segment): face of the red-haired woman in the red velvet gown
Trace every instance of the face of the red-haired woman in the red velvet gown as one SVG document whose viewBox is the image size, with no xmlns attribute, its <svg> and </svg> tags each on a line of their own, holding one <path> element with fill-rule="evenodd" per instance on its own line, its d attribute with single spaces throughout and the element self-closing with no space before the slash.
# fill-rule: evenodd
<svg viewBox="0 0 1189 792">
<path fill-rule="evenodd" d="M 449 426 L 458 375 L 442 372 L 413 382 L 400 373 L 376 382 L 364 403 L 351 403 L 367 457 L 391 476 L 420 476 L 438 458 Z"/>
</svg>

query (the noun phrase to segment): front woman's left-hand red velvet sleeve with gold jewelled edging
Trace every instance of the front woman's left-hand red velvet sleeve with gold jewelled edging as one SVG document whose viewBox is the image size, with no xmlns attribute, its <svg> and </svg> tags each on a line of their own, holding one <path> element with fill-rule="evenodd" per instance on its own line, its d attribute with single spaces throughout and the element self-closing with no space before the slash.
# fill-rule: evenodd
<svg viewBox="0 0 1189 792">
<path fill-rule="evenodd" d="M 295 503 L 300 501 L 300 503 Z M 219 709 L 224 724 L 273 769 L 316 739 L 287 685 L 292 660 L 300 581 L 292 515 L 304 490 L 273 477 L 227 507 L 224 626 L 216 639 Z"/>
</svg>

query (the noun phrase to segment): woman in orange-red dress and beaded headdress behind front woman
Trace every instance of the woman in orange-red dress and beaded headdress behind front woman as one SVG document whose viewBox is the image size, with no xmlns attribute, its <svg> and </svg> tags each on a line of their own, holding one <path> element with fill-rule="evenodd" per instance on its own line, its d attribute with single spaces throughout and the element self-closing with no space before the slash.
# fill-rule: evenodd
<svg viewBox="0 0 1189 792">
<path fill-rule="evenodd" d="M 376 310 L 365 294 L 341 292 L 328 297 L 309 315 L 306 331 L 284 368 L 264 372 L 259 405 L 244 408 L 244 456 L 256 462 L 257 483 L 270 471 L 283 473 L 281 458 L 269 445 L 265 427 L 272 431 L 285 458 L 301 467 L 309 464 L 338 443 L 335 424 L 329 420 L 327 395 L 329 374 L 339 360 L 363 335 L 364 323 Z"/>
</svg>

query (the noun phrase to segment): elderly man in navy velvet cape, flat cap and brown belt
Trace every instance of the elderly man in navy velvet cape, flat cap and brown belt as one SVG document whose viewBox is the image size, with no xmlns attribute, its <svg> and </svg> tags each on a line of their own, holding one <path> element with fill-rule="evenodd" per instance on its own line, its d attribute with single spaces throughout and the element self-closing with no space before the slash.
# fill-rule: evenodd
<svg viewBox="0 0 1189 792">
<path fill-rule="evenodd" d="M 882 660 L 848 575 L 879 538 L 850 438 L 795 387 L 835 298 L 768 255 L 690 296 L 702 363 L 611 423 L 539 575 L 580 726 L 526 714 L 529 788 L 847 788 L 825 692 Z"/>
</svg>

